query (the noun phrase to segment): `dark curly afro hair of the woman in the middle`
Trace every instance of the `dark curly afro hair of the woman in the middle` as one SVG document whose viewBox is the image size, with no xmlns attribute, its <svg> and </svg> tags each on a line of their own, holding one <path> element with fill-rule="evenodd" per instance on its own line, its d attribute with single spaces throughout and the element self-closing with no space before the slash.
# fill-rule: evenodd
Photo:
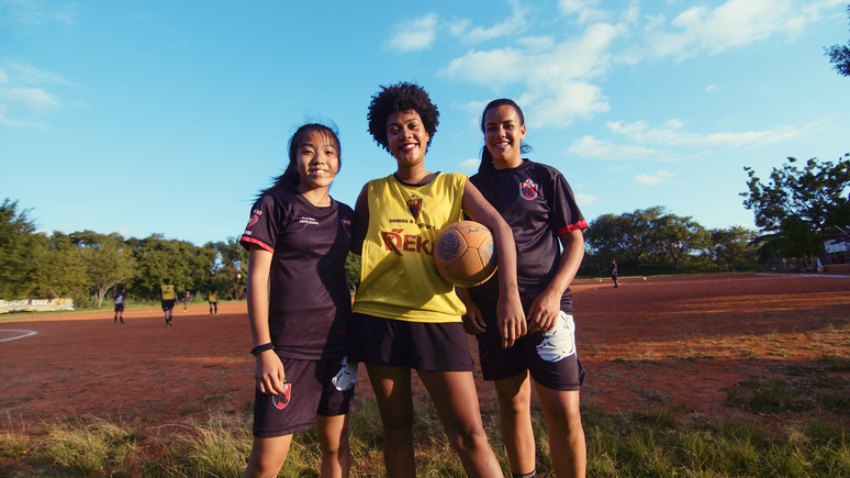
<svg viewBox="0 0 850 478">
<path fill-rule="evenodd" d="M 428 145 L 434 140 L 439 124 L 439 111 L 437 105 L 430 102 L 428 93 L 421 86 L 402 81 L 389 87 L 381 86 L 381 90 L 372 97 L 369 103 L 369 133 L 376 143 L 390 152 L 387 138 L 387 119 L 395 111 L 416 111 L 422 118 L 422 124 L 428 133 Z M 392 153 L 392 152 L 390 152 Z"/>
</svg>

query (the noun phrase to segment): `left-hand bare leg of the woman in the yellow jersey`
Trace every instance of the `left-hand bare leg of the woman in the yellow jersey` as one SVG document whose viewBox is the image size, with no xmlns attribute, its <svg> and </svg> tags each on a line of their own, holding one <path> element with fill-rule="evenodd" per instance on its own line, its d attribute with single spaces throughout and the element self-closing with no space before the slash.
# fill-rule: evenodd
<svg viewBox="0 0 850 478">
<path fill-rule="evenodd" d="M 414 478 L 411 369 L 366 364 L 383 425 L 383 464 L 390 478 Z"/>
</svg>

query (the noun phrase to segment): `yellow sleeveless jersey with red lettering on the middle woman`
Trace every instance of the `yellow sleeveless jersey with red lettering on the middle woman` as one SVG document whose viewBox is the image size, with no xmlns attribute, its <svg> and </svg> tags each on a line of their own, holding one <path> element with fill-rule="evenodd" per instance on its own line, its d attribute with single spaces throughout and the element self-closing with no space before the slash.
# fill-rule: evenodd
<svg viewBox="0 0 850 478">
<path fill-rule="evenodd" d="M 462 219 L 467 176 L 438 174 L 424 186 L 394 176 L 369 181 L 369 226 L 354 311 L 410 322 L 460 322 L 466 312 L 432 253 L 443 227 Z"/>
</svg>

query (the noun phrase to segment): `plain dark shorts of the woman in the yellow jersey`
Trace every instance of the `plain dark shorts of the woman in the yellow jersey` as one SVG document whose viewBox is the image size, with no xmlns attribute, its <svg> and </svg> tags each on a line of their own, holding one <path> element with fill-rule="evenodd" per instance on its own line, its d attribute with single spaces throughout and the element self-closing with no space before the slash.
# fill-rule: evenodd
<svg viewBox="0 0 850 478">
<path fill-rule="evenodd" d="M 351 362 L 421 370 L 476 369 L 461 322 L 421 323 L 353 313 L 348 336 Z"/>
</svg>

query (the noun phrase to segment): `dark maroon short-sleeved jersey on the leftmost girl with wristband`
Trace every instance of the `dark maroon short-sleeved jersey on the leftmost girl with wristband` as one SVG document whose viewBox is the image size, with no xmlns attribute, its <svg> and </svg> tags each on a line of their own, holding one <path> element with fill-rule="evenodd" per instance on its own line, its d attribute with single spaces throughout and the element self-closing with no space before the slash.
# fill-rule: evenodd
<svg viewBox="0 0 850 478">
<path fill-rule="evenodd" d="M 345 258 L 354 216 L 342 202 L 318 208 L 295 191 L 270 192 L 254 204 L 239 244 L 273 254 L 269 332 L 281 356 L 316 360 L 346 354 L 351 296 Z"/>
</svg>

